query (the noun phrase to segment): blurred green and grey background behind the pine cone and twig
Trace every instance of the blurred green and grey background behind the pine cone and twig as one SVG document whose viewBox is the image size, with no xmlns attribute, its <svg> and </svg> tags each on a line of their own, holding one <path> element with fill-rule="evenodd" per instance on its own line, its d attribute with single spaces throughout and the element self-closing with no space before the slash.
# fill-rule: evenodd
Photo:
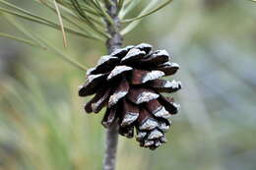
<svg viewBox="0 0 256 170">
<path fill-rule="evenodd" d="M 38 4 L 14 1 L 53 20 Z M 140 6 L 136 10 L 140 10 Z M 0 16 L 0 31 L 22 35 Z M 104 44 L 28 25 L 91 67 Z M 124 37 L 165 48 L 181 69 L 168 142 L 155 151 L 119 138 L 118 170 L 256 169 L 256 3 L 176 0 Z M 84 113 L 85 73 L 56 54 L 0 38 L 0 169 L 98 170 L 104 152 L 102 113 Z"/>
</svg>

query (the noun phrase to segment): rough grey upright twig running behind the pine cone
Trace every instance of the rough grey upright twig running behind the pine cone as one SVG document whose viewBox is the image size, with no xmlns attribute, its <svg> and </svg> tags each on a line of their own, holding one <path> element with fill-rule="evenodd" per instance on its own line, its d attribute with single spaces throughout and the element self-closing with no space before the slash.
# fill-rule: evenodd
<svg viewBox="0 0 256 170">
<path fill-rule="evenodd" d="M 122 45 L 122 36 L 120 35 L 120 20 L 118 18 L 118 3 L 117 0 L 109 0 L 111 3 L 106 3 L 107 14 L 111 17 L 112 22 L 105 20 L 107 31 L 111 35 L 106 40 L 106 48 L 108 54 L 113 50 L 120 48 Z M 106 150 L 103 160 L 103 170 L 114 170 L 116 160 L 116 150 L 118 142 L 118 125 L 114 124 L 106 132 Z"/>
</svg>

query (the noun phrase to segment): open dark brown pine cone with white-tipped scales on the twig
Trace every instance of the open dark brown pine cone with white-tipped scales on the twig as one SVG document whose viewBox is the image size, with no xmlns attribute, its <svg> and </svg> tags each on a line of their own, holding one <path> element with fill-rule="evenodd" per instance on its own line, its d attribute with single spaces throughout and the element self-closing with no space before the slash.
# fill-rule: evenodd
<svg viewBox="0 0 256 170">
<path fill-rule="evenodd" d="M 177 72 L 178 64 L 170 62 L 165 50 L 152 50 L 141 43 L 116 49 L 102 56 L 95 68 L 88 70 L 87 80 L 80 86 L 79 95 L 95 96 L 85 105 L 88 113 L 106 111 L 102 125 L 119 126 L 119 134 L 134 137 L 141 146 L 155 149 L 166 142 L 171 115 L 179 105 L 160 92 L 175 92 L 181 88 L 176 81 L 160 80 Z"/>
</svg>

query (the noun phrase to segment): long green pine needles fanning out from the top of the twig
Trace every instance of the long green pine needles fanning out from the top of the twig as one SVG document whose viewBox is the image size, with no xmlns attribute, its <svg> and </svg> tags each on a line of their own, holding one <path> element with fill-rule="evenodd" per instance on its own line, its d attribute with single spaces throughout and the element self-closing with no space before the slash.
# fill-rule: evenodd
<svg viewBox="0 0 256 170">
<path fill-rule="evenodd" d="M 64 37 L 64 42 L 66 42 L 65 33 L 72 33 L 75 35 L 82 36 L 84 38 L 95 39 L 100 41 L 105 41 L 110 37 L 106 29 L 106 23 L 113 25 L 113 19 L 107 14 L 106 7 L 113 3 L 110 0 L 32 0 L 33 2 L 40 3 L 44 5 L 47 9 L 53 11 L 58 15 L 59 23 L 50 21 L 49 19 L 36 15 L 24 8 L 21 8 L 14 3 L 8 2 L 8 0 L 0 0 L 0 13 L 3 14 L 11 24 L 16 28 L 21 30 L 29 39 L 17 37 L 15 35 L 10 35 L 7 33 L 0 33 L 1 37 L 6 37 L 10 39 L 15 39 L 26 44 L 40 47 L 43 49 L 49 49 L 54 53 L 58 54 L 64 61 L 72 64 L 73 66 L 81 69 L 87 70 L 87 68 L 80 63 L 76 62 L 61 50 L 56 48 L 54 45 L 49 43 L 47 40 L 38 36 L 36 33 L 32 33 L 31 30 L 25 28 L 17 20 L 12 18 L 21 18 L 30 21 L 35 24 L 40 24 L 49 28 L 55 28 L 61 30 Z M 255 2 L 255 0 L 252 0 Z M 137 27 L 141 20 L 145 17 L 152 15 L 166 5 L 168 5 L 172 0 L 166 0 L 160 6 L 154 9 L 160 0 L 148 1 L 148 5 L 142 10 L 142 12 L 135 18 L 122 20 L 128 13 L 130 13 L 142 0 L 118 0 L 118 13 L 121 23 L 127 23 L 128 25 L 121 30 L 121 34 L 125 34 L 131 31 L 133 28 Z M 56 7 L 58 8 L 56 10 Z M 60 11 L 62 13 L 60 13 Z M 65 26 L 63 21 L 70 24 L 70 27 Z"/>
</svg>

